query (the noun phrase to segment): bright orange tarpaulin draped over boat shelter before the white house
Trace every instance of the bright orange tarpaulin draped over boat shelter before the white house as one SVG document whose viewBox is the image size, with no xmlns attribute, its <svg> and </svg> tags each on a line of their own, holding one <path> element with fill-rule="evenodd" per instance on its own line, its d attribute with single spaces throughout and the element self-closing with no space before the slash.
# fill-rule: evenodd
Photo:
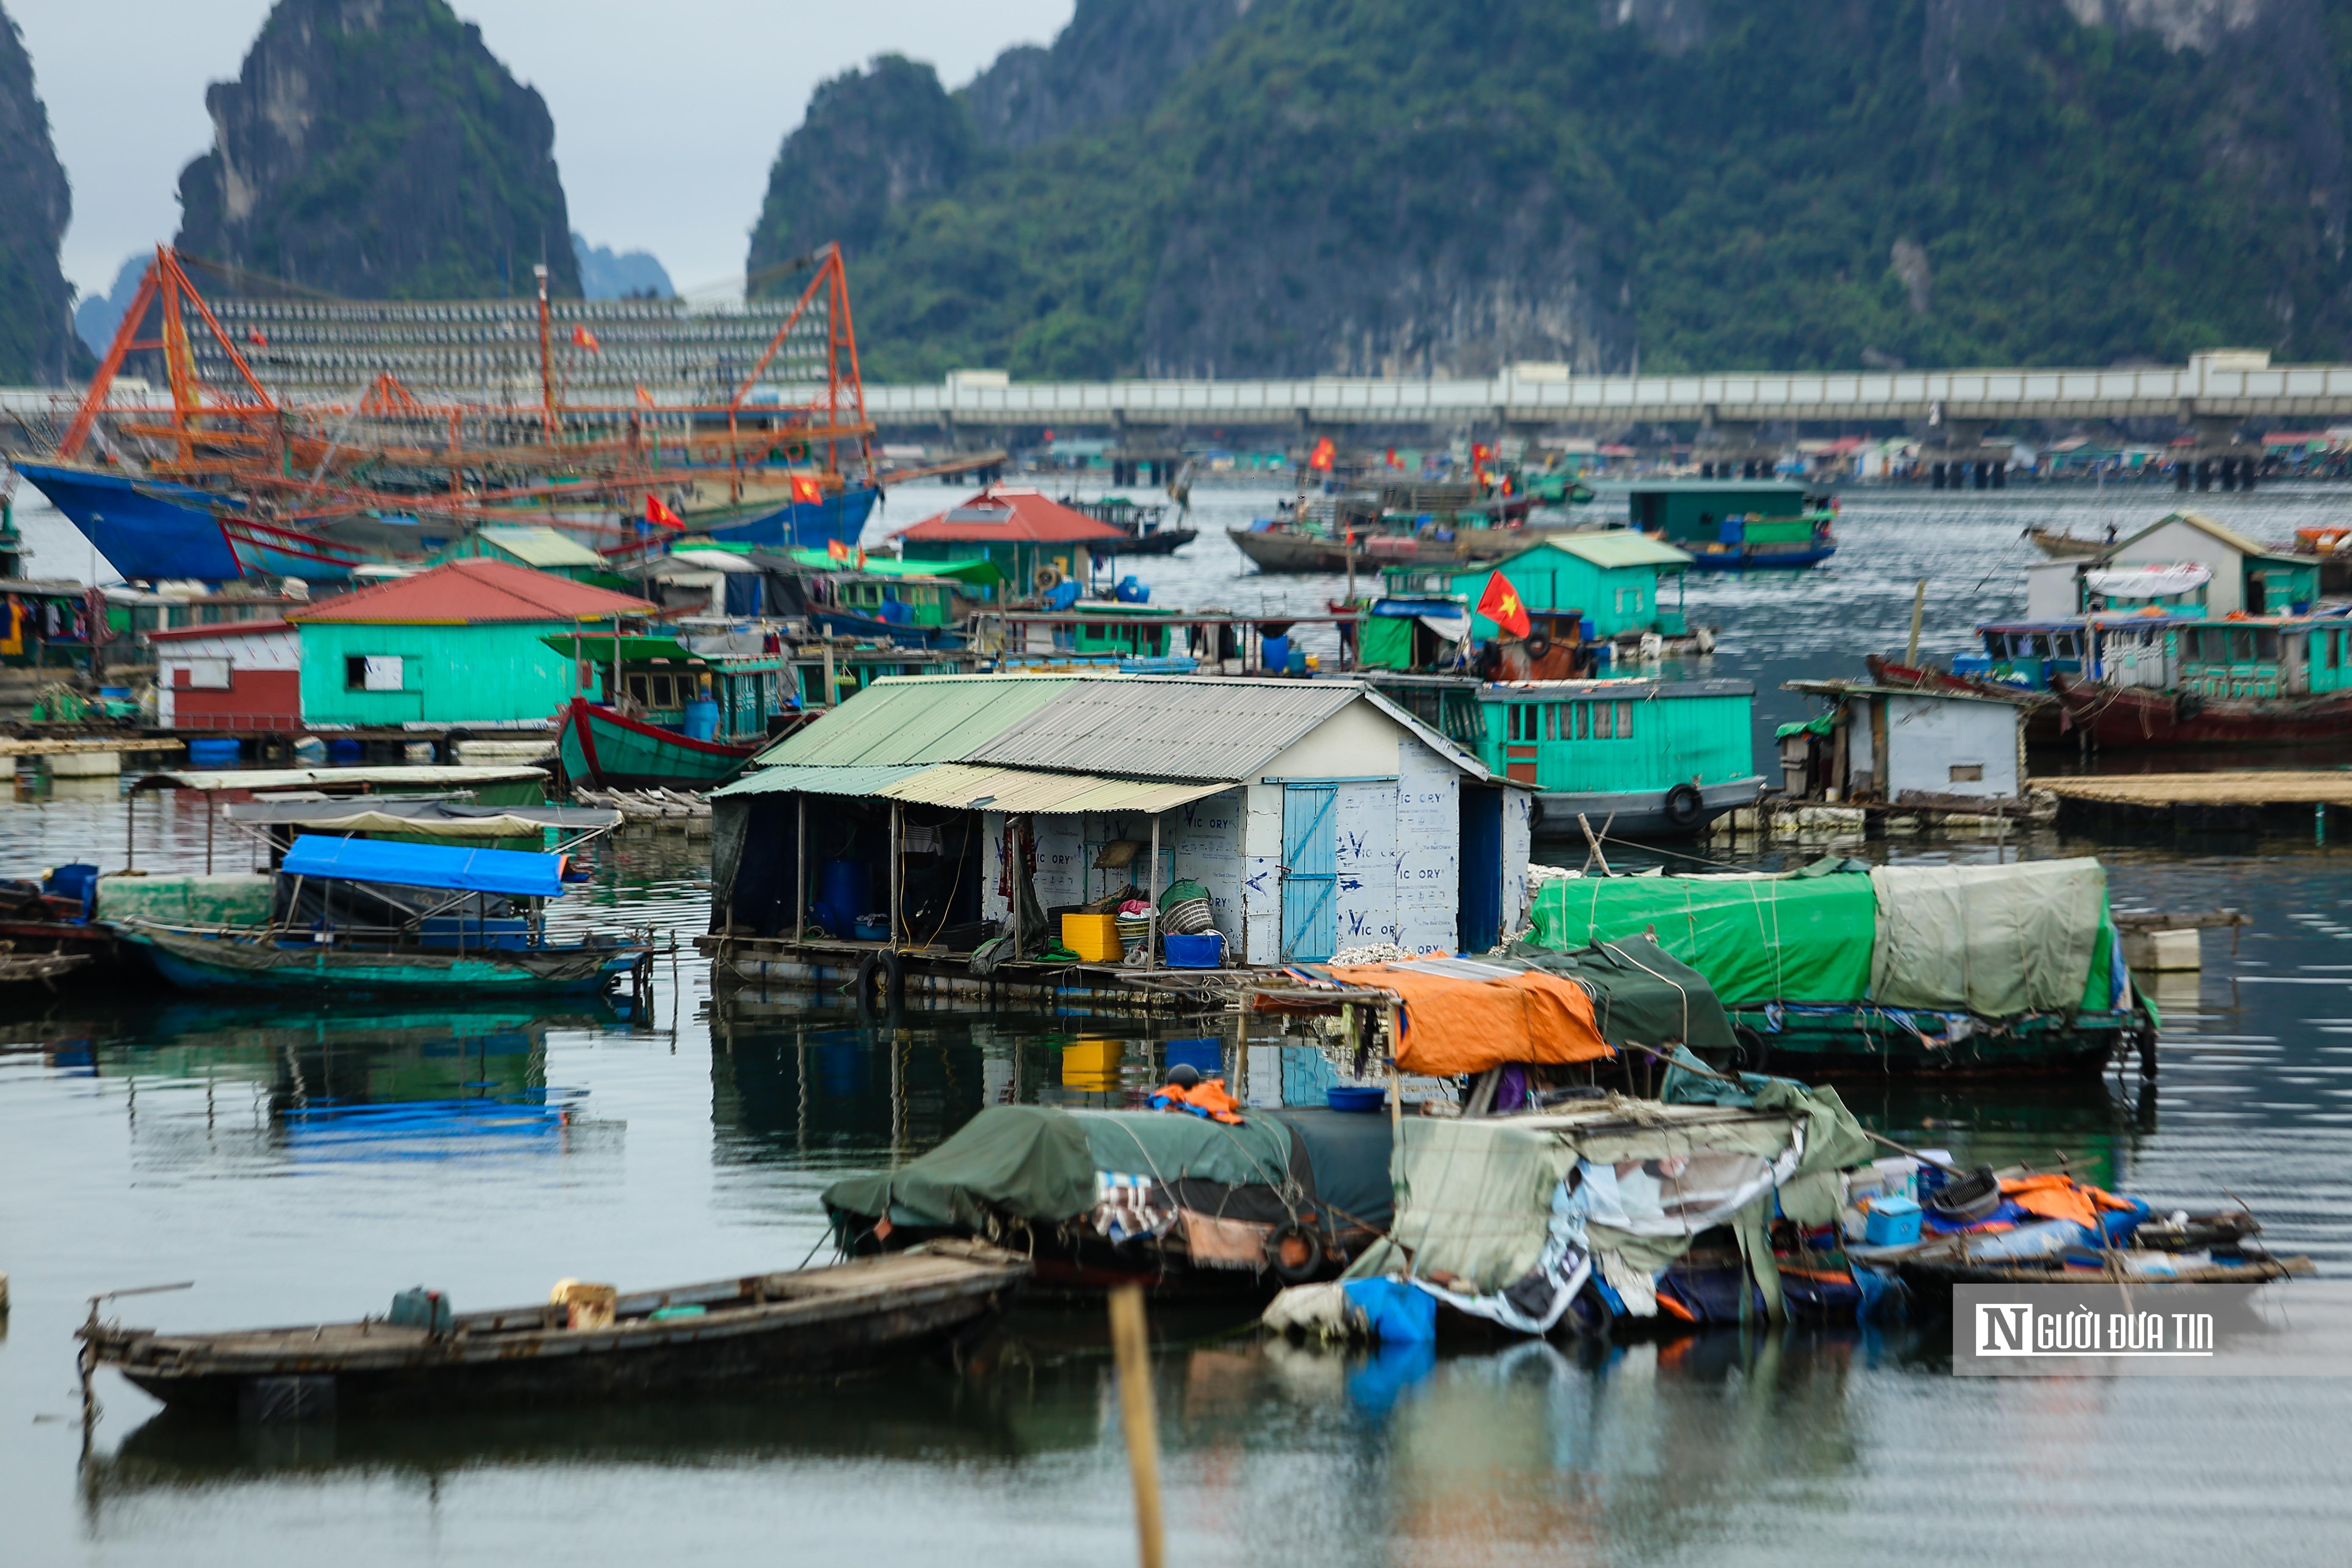
<svg viewBox="0 0 2352 1568">
<path fill-rule="evenodd" d="M 1451 1077 L 1505 1063 L 1590 1063 L 1611 1056 L 1585 987 L 1543 971 L 1463 980 L 1392 964 L 1331 966 L 1334 980 L 1404 999 L 1397 1067 Z"/>
</svg>

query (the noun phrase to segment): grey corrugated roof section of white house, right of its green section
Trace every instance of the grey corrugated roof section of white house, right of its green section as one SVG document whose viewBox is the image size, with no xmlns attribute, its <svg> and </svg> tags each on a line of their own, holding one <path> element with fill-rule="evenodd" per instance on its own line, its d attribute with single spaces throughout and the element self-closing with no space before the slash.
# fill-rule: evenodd
<svg viewBox="0 0 2352 1568">
<path fill-rule="evenodd" d="M 1324 682 L 1082 679 L 962 759 L 1232 783 L 1359 696 Z"/>
</svg>

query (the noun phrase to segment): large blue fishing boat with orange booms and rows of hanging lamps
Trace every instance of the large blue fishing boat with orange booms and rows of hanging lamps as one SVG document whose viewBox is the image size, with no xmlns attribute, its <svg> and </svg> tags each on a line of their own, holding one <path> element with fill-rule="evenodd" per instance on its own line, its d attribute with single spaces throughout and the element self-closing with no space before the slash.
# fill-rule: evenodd
<svg viewBox="0 0 2352 1568">
<path fill-rule="evenodd" d="M 649 496 L 717 534 L 795 505 L 863 524 L 870 508 L 835 244 L 797 263 L 797 296 L 715 310 L 548 299 L 543 275 L 534 299 L 207 301 L 191 268 L 209 266 L 155 249 L 54 458 L 21 465 L 111 559 L 122 545 L 75 515 L 78 484 L 209 512 L 240 571 L 308 576 L 397 555 L 419 524 L 548 522 L 630 550 Z M 160 362 L 160 388 L 125 374 L 136 355 Z M 809 541 L 786 527 L 767 543 Z"/>
</svg>

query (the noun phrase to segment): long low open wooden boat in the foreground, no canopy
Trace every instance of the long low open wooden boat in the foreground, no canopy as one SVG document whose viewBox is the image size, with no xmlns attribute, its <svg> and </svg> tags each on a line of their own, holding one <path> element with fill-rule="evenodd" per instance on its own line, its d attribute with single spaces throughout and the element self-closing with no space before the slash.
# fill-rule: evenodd
<svg viewBox="0 0 2352 1568">
<path fill-rule="evenodd" d="M 567 1307 L 532 1305 L 459 1312 L 440 1326 L 158 1333 L 89 1321 L 78 1338 L 92 1366 L 113 1366 L 165 1403 L 249 1418 L 616 1403 L 913 1356 L 993 1319 L 1028 1274 L 1016 1253 L 934 1241 L 818 1269 L 630 1291 L 602 1328 L 569 1328 Z"/>
</svg>

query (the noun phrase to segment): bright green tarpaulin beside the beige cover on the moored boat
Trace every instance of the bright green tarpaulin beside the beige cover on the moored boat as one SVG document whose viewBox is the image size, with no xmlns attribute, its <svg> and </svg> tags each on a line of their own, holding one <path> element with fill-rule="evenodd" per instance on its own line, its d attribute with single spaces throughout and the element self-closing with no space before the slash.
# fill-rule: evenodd
<svg viewBox="0 0 2352 1568">
<path fill-rule="evenodd" d="M 1729 1006 L 1860 1001 L 1877 896 L 1860 872 L 1820 877 L 1564 877 L 1536 891 L 1536 943 L 1571 952 L 1656 931 Z"/>
</svg>

